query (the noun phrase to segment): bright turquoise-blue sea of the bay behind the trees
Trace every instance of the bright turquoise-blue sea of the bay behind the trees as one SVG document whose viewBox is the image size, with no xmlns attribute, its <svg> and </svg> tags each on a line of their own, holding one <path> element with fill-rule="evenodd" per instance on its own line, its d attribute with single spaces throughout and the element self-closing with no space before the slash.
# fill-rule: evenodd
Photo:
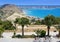
<svg viewBox="0 0 60 42">
<path fill-rule="evenodd" d="M 26 6 L 28 7 L 28 6 Z M 39 18 L 44 18 L 47 15 L 54 15 L 55 17 L 60 17 L 60 6 L 55 7 L 55 8 L 23 8 L 23 11 L 26 13 L 28 16 L 34 16 L 34 17 L 39 17 Z M 51 7 L 51 6 L 49 6 Z M 54 6 L 53 6 L 54 7 Z"/>
</svg>

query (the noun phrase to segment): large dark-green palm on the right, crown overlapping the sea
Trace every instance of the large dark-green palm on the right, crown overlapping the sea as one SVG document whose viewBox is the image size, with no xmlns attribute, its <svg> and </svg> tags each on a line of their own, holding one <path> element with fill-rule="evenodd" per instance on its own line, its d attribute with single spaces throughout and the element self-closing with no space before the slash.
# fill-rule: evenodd
<svg viewBox="0 0 60 42">
<path fill-rule="evenodd" d="M 48 29 L 48 36 L 49 36 L 49 30 L 52 25 L 54 25 L 55 17 L 53 15 L 48 15 L 44 18 L 45 25 L 47 26 Z"/>
</svg>

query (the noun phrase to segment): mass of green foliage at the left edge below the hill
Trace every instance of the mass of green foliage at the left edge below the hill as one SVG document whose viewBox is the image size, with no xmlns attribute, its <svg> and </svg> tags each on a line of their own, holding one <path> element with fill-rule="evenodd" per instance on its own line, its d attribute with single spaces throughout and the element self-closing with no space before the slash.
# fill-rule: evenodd
<svg viewBox="0 0 60 42">
<path fill-rule="evenodd" d="M 10 21 L 2 21 L 0 20 L 0 37 L 2 37 L 2 33 L 4 30 L 14 30 L 15 27 Z"/>
</svg>

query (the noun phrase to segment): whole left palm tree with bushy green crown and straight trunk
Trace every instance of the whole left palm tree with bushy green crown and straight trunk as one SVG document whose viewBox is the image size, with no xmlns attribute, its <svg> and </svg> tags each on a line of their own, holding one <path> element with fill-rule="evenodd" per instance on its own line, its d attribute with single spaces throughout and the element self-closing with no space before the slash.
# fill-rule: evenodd
<svg viewBox="0 0 60 42">
<path fill-rule="evenodd" d="M 22 37 L 24 36 L 24 26 L 29 24 L 29 19 L 27 18 L 17 18 L 16 19 L 17 23 L 22 26 Z"/>
</svg>

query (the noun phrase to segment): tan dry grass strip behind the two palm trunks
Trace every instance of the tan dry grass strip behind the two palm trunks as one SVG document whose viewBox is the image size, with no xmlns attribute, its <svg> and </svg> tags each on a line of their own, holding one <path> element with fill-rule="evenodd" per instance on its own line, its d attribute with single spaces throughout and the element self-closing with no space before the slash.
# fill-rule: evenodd
<svg viewBox="0 0 60 42">
<path fill-rule="evenodd" d="M 42 30 L 45 30 L 47 31 L 47 26 L 45 25 L 30 25 L 28 26 L 27 28 L 24 28 L 24 31 L 25 32 L 34 32 L 34 30 L 37 30 L 37 29 L 42 29 Z M 54 31 L 56 30 L 53 26 L 50 28 L 50 31 Z M 14 30 L 6 30 L 5 32 L 13 32 Z M 16 32 L 21 32 L 22 29 L 21 28 L 17 28 Z"/>
</svg>

